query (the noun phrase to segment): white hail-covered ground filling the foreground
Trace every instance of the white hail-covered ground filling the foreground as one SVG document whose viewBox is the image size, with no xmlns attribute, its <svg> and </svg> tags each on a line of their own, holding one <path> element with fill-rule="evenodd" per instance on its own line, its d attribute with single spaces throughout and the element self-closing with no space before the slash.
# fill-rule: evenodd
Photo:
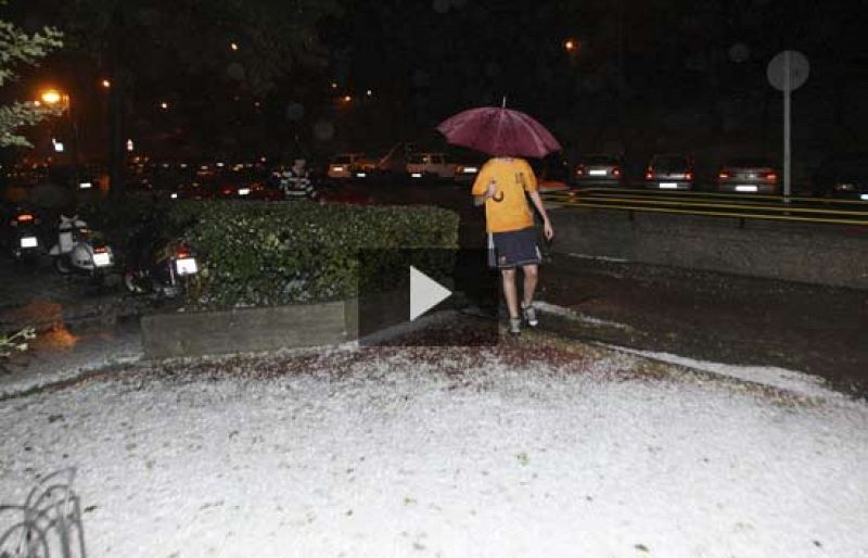
<svg viewBox="0 0 868 558">
<path fill-rule="evenodd" d="M 91 558 L 868 556 L 868 407 L 695 368 L 542 335 L 129 365 L 0 402 L 0 504 L 75 467 Z"/>
</svg>

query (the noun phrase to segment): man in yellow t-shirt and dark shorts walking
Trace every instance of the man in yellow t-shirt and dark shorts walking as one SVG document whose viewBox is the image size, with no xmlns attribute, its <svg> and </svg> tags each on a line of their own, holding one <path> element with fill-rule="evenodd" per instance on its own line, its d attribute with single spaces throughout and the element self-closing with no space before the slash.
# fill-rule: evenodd
<svg viewBox="0 0 868 558">
<path fill-rule="evenodd" d="M 476 176 L 471 191 L 474 203 L 485 205 L 485 223 L 488 232 L 488 264 L 500 269 L 503 296 L 509 309 L 509 332 L 521 333 L 522 317 L 531 327 L 538 321 L 534 309 L 534 291 L 541 261 L 536 245 L 534 215 L 527 196 L 542 217 L 542 232 L 551 240 L 548 213 L 537 191 L 536 176 L 523 158 L 498 156 L 488 160 Z M 515 287 L 515 269 L 524 272 L 521 313 Z"/>
</svg>

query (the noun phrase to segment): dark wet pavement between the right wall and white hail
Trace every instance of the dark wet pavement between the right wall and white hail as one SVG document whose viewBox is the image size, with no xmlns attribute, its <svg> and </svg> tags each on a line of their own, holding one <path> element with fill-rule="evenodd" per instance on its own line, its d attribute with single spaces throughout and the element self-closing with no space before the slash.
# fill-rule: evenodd
<svg viewBox="0 0 868 558">
<path fill-rule="evenodd" d="M 776 366 L 868 393 L 868 293 L 554 254 L 539 299 L 603 324 L 562 333 L 638 350 Z M 605 324 L 609 322 L 609 324 Z"/>
</svg>

